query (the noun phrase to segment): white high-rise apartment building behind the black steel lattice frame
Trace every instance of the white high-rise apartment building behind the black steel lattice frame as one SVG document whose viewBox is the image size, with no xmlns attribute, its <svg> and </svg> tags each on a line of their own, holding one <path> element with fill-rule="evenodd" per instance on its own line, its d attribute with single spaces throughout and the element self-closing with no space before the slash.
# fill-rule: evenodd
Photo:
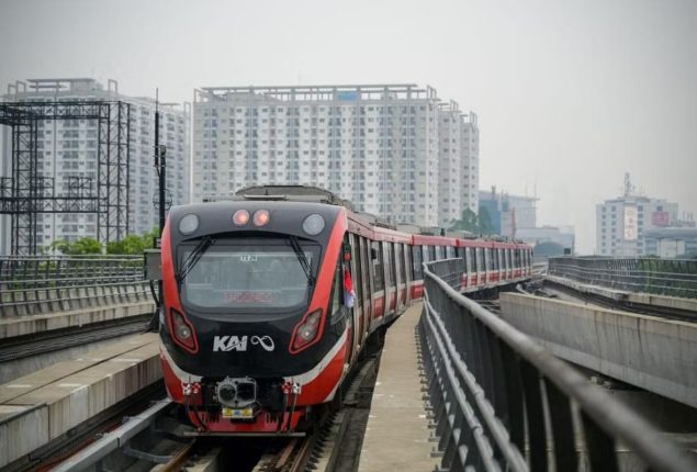
<svg viewBox="0 0 697 472">
<path fill-rule="evenodd" d="M 128 146 L 128 233 L 143 234 L 158 225 L 158 179 L 154 168 L 155 100 L 127 97 L 119 93 L 117 83 L 110 80 L 108 88 L 94 79 L 36 79 L 12 85 L 4 102 L 86 102 L 111 101 L 127 103 Z M 160 103 L 160 144 L 167 146 L 168 201 L 183 204 L 190 201 L 190 106 L 178 109 L 171 103 Z M 124 126 L 124 128 L 126 128 Z M 11 176 L 11 139 L 5 127 L 1 167 L 4 177 Z M 70 179 L 82 178 L 97 186 L 99 136 L 106 132 L 97 120 L 42 120 L 37 126 L 37 176 L 55 182 L 56 194 L 69 192 Z M 75 180 L 72 180 L 75 182 Z M 93 191 L 93 189 L 92 189 Z M 41 213 L 37 215 L 37 245 L 54 240 L 75 240 L 97 236 L 98 215 L 94 213 Z M 0 250 L 9 251 L 9 216 L 0 237 Z"/>
</svg>

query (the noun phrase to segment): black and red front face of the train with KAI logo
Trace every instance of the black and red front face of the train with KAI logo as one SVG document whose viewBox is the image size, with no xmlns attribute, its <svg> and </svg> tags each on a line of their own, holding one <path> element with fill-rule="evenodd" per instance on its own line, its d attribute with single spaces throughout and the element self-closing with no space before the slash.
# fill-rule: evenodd
<svg viewBox="0 0 697 472">
<path fill-rule="evenodd" d="M 346 211 L 321 203 L 170 211 L 162 371 L 200 432 L 302 430 L 333 398 L 348 348 L 346 313 L 331 307 L 346 229 Z"/>
</svg>

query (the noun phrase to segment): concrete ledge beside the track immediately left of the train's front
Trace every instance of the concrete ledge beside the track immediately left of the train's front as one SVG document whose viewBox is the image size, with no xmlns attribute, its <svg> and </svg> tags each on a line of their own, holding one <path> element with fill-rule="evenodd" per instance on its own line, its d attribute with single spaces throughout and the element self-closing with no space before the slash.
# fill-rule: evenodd
<svg viewBox="0 0 697 472">
<path fill-rule="evenodd" d="M 157 334 L 0 385 L 0 468 L 161 378 Z"/>
</svg>

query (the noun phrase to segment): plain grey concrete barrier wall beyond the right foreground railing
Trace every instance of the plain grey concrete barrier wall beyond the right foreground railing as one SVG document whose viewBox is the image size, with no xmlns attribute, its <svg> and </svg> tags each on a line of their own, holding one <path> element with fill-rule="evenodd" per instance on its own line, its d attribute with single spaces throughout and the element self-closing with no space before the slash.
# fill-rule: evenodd
<svg viewBox="0 0 697 472">
<path fill-rule="evenodd" d="M 514 293 L 501 308 L 555 356 L 697 407 L 697 325 Z"/>
</svg>

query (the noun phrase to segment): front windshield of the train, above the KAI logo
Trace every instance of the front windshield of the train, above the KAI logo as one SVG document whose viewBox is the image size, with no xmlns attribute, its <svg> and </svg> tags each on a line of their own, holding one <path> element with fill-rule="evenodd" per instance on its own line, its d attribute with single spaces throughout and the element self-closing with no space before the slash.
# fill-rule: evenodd
<svg viewBox="0 0 697 472">
<path fill-rule="evenodd" d="M 195 245 L 179 251 L 180 267 Z M 301 262 L 296 249 L 305 255 Z M 184 305 L 203 310 L 291 310 L 308 302 L 319 246 L 288 239 L 252 244 L 216 240 L 200 255 L 181 281 Z"/>
</svg>

